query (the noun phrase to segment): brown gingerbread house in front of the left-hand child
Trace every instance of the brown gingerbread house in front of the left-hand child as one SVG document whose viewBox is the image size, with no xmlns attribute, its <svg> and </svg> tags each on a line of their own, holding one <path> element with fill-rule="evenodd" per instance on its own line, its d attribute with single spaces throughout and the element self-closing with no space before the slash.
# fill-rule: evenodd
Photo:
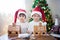
<svg viewBox="0 0 60 40">
<path fill-rule="evenodd" d="M 8 37 L 17 37 L 21 33 L 21 28 L 19 25 L 9 25 L 8 26 Z"/>
</svg>

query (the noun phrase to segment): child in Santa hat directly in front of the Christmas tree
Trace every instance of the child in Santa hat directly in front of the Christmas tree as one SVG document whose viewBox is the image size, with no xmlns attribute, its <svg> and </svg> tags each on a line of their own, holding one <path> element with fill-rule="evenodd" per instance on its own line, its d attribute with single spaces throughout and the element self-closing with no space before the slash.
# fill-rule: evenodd
<svg viewBox="0 0 60 40">
<path fill-rule="evenodd" d="M 40 12 L 39 7 L 36 7 L 31 14 L 31 17 L 33 18 L 33 21 L 29 23 L 28 32 L 32 33 L 34 31 L 34 26 L 39 26 L 39 23 L 42 23 L 42 25 L 46 24 L 40 21 L 40 18 L 42 18 L 42 13 Z"/>
</svg>

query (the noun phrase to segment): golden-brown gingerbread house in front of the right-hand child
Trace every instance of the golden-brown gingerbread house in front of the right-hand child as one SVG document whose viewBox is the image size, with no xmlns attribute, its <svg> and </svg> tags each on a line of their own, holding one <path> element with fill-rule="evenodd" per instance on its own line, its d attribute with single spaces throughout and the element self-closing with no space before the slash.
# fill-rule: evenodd
<svg viewBox="0 0 60 40">
<path fill-rule="evenodd" d="M 38 26 L 34 26 L 34 36 L 40 37 L 41 35 L 46 34 L 46 26 L 43 26 L 42 23 L 40 23 Z"/>
</svg>

